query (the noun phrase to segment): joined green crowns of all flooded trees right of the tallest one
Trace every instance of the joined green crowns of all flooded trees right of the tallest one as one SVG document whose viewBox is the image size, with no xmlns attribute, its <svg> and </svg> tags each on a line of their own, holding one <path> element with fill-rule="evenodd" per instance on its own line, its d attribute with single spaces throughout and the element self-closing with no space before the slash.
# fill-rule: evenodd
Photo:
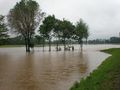
<svg viewBox="0 0 120 90">
<path fill-rule="evenodd" d="M 66 42 L 70 42 L 71 40 L 78 40 L 80 42 L 80 40 L 83 38 L 87 39 L 89 36 L 88 26 L 82 20 L 74 26 L 68 20 L 56 19 L 54 15 L 49 15 L 43 20 L 39 32 L 45 39 L 50 40 L 52 37 L 56 38 L 57 47 L 58 42 L 62 41 L 64 48 L 66 48 Z"/>
</svg>

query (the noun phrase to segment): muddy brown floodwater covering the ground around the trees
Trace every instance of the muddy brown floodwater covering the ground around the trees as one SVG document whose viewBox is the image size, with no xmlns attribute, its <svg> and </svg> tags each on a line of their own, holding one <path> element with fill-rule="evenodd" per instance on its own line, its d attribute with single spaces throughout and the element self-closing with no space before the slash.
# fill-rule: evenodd
<svg viewBox="0 0 120 90">
<path fill-rule="evenodd" d="M 30 54 L 24 47 L 0 48 L 0 90 L 69 90 L 96 69 L 109 55 L 100 49 L 119 45 L 86 45 L 83 52 L 56 52 L 35 48 Z"/>
</svg>

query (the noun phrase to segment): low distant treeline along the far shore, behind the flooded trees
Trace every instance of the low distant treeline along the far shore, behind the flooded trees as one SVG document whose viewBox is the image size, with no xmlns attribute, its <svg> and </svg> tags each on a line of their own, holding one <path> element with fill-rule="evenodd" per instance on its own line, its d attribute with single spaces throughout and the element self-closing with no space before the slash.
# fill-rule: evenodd
<svg viewBox="0 0 120 90">
<path fill-rule="evenodd" d="M 48 44 L 47 40 L 44 40 L 46 44 Z M 35 36 L 32 39 L 32 42 L 35 45 L 42 45 L 43 44 L 43 38 L 40 36 Z M 56 40 L 52 40 L 52 44 L 56 44 Z M 62 39 L 59 42 L 60 44 L 63 43 Z M 67 44 L 78 44 L 75 40 L 66 40 Z M 86 41 L 84 41 L 86 44 Z M 88 44 L 119 44 L 120 43 L 120 37 L 111 37 L 110 39 L 95 39 L 95 40 L 88 40 Z M 24 45 L 24 38 L 22 36 L 16 36 L 14 38 L 8 38 L 0 40 L 0 45 Z"/>
</svg>

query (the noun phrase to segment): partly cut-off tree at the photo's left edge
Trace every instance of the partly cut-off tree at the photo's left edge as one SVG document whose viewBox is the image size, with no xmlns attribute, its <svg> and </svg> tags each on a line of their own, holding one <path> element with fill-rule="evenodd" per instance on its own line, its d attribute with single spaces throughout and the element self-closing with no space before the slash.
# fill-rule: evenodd
<svg viewBox="0 0 120 90">
<path fill-rule="evenodd" d="M 4 22 L 4 16 L 0 15 L 0 44 L 2 44 L 2 41 L 7 39 L 8 37 L 8 29 Z"/>
</svg>

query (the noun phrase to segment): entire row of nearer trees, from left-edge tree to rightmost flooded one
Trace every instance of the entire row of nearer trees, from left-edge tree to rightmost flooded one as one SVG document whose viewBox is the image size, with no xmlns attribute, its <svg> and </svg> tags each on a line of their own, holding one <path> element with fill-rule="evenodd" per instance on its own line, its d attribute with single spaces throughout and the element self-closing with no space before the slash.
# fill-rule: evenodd
<svg viewBox="0 0 120 90">
<path fill-rule="evenodd" d="M 82 19 L 74 25 L 69 20 L 57 19 L 55 15 L 46 16 L 40 9 L 39 4 L 33 0 L 21 0 L 17 2 L 7 15 L 7 25 L 11 32 L 17 33 L 22 37 L 26 46 L 26 52 L 30 52 L 30 47 L 35 43 L 34 40 L 42 42 L 43 49 L 45 43 L 48 42 L 49 51 L 51 51 L 51 43 L 53 41 L 56 42 L 57 51 L 59 50 L 59 44 L 62 43 L 64 50 L 66 50 L 67 41 L 77 41 L 82 50 L 83 39 L 87 41 L 89 36 L 88 25 Z M 36 29 L 38 29 L 39 35 L 35 34 Z M 1 40 L 7 38 L 7 31 L 4 16 L 1 15 Z"/>
</svg>

